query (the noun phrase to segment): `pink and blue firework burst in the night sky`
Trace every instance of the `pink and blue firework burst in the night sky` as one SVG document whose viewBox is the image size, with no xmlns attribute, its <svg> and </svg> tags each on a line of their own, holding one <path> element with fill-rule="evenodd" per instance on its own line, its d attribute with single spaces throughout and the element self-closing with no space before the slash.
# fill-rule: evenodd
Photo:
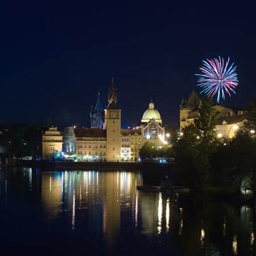
<svg viewBox="0 0 256 256">
<path fill-rule="evenodd" d="M 231 93 L 236 94 L 234 89 L 238 85 L 236 68 L 233 67 L 234 63 L 229 65 L 228 61 L 224 61 L 223 58 L 218 56 L 213 60 L 203 60 L 203 67 L 200 68 L 201 74 L 195 74 L 199 76 L 197 86 L 202 88 L 200 93 L 205 93 L 209 97 L 217 95 L 217 102 L 220 102 L 220 98 L 225 100 L 225 93 L 231 97 Z"/>
</svg>

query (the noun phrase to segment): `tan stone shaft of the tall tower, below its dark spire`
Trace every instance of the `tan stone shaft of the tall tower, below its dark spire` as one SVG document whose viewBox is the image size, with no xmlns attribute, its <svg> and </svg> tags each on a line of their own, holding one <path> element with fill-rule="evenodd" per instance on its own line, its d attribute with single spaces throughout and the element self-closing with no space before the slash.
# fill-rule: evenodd
<svg viewBox="0 0 256 256">
<path fill-rule="evenodd" d="M 106 160 L 117 162 L 121 156 L 121 109 L 105 109 Z"/>
</svg>

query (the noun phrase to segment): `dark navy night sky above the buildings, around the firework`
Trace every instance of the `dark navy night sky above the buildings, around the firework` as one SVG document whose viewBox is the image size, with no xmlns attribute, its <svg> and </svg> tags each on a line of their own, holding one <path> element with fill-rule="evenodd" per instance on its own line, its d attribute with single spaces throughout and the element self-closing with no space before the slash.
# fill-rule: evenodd
<svg viewBox="0 0 256 256">
<path fill-rule="evenodd" d="M 256 7 L 237 2 L 1 3 L 0 123 L 86 126 L 114 77 L 123 126 L 140 121 L 151 97 L 174 124 L 201 61 L 218 55 L 240 81 L 225 105 L 245 105 L 256 94 Z"/>
</svg>

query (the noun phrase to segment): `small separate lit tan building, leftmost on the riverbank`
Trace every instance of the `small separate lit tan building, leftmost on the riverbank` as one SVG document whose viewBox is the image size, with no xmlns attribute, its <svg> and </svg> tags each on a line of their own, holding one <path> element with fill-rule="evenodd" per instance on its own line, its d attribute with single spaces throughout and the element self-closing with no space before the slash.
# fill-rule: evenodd
<svg viewBox="0 0 256 256">
<path fill-rule="evenodd" d="M 42 135 L 42 159 L 51 158 L 55 152 L 62 152 L 63 136 L 58 127 L 49 127 Z"/>
</svg>

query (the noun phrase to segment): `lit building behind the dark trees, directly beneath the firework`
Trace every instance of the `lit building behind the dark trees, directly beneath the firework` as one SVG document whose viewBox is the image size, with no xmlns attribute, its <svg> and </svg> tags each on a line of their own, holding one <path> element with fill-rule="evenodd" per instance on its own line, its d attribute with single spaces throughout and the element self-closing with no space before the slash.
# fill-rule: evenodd
<svg viewBox="0 0 256 256">
<path fill-rule="evenodd" d="M 201 100 L 195 91 L 191 93 L 187 100 L 182 100 L 180 104 L 180 129 L 194 124 L 195 118 L 199 115 Z M 239 127 L 247 121 L 247 116 L 242 110 L 237 112 L 225 106 L 215 105 L 213 109 L 217 112 L 217 125 L 215 127 L 218 137 L 233 138 Z"/>
</svg>

